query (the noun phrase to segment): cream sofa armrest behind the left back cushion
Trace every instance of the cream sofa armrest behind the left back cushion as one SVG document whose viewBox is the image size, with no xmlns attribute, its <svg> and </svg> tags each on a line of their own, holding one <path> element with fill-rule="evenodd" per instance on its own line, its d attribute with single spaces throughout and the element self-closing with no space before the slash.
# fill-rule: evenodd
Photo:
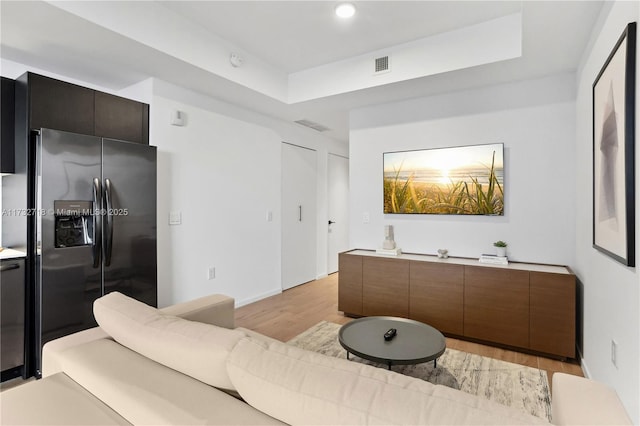
<svg viewBox="0 0 640 426">
<path fill-rule="evenodd" d="M 224 328 L 235 328 L 235 300 L 223 294 L 211 294 L 188 302 L 160 309 L 165 315 L 174 315 L 190 321 L 203 322 Z"/>
</svg>

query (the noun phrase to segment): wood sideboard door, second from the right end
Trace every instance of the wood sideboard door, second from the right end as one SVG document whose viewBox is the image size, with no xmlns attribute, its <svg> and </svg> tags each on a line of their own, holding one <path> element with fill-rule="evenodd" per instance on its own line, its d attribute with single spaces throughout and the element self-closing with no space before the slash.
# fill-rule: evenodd
<svg viewBox="0 0 640 426">
<path fill-rule="evenodd" d="M 464 335 L 529 347 L 529 271 L 465 266 Z"/>
</svg>

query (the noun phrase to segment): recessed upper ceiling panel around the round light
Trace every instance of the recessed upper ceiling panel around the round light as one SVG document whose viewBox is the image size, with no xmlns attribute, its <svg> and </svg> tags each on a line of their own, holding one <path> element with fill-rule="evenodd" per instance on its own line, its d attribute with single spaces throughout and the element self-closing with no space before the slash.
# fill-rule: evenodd
<svg viewBox="0 0 640 426">
<path fill-rule="evenodd" d="M 295 72 L 519 12 L 511 1 L 357 2 L 344 20 L 334 1 L 163 1 L 212 33 Z"/>
</svg>

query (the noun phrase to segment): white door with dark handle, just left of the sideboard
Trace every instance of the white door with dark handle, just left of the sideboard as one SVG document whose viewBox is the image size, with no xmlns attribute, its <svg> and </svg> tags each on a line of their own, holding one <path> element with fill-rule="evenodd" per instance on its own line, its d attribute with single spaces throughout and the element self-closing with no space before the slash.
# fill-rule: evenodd
<svg viewBox="0 0 640 426">
<path fill-rule="evenodd" d="M 327 271 L 338 271 L 338 253 L 349 249 L 349 159 L 329 154 Z"/>
</svg>

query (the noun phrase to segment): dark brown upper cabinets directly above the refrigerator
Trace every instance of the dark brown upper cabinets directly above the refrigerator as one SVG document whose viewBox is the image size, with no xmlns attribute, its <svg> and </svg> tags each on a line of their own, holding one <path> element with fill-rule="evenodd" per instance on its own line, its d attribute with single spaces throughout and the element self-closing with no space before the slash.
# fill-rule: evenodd
<svg viewBox="0 0 640 426">
<path fill-rule="evenodd" d="M 26 73 L 17 80 L 26 129 L 55 129 L 149 144 L 149 105 Z"/>
</svg>

